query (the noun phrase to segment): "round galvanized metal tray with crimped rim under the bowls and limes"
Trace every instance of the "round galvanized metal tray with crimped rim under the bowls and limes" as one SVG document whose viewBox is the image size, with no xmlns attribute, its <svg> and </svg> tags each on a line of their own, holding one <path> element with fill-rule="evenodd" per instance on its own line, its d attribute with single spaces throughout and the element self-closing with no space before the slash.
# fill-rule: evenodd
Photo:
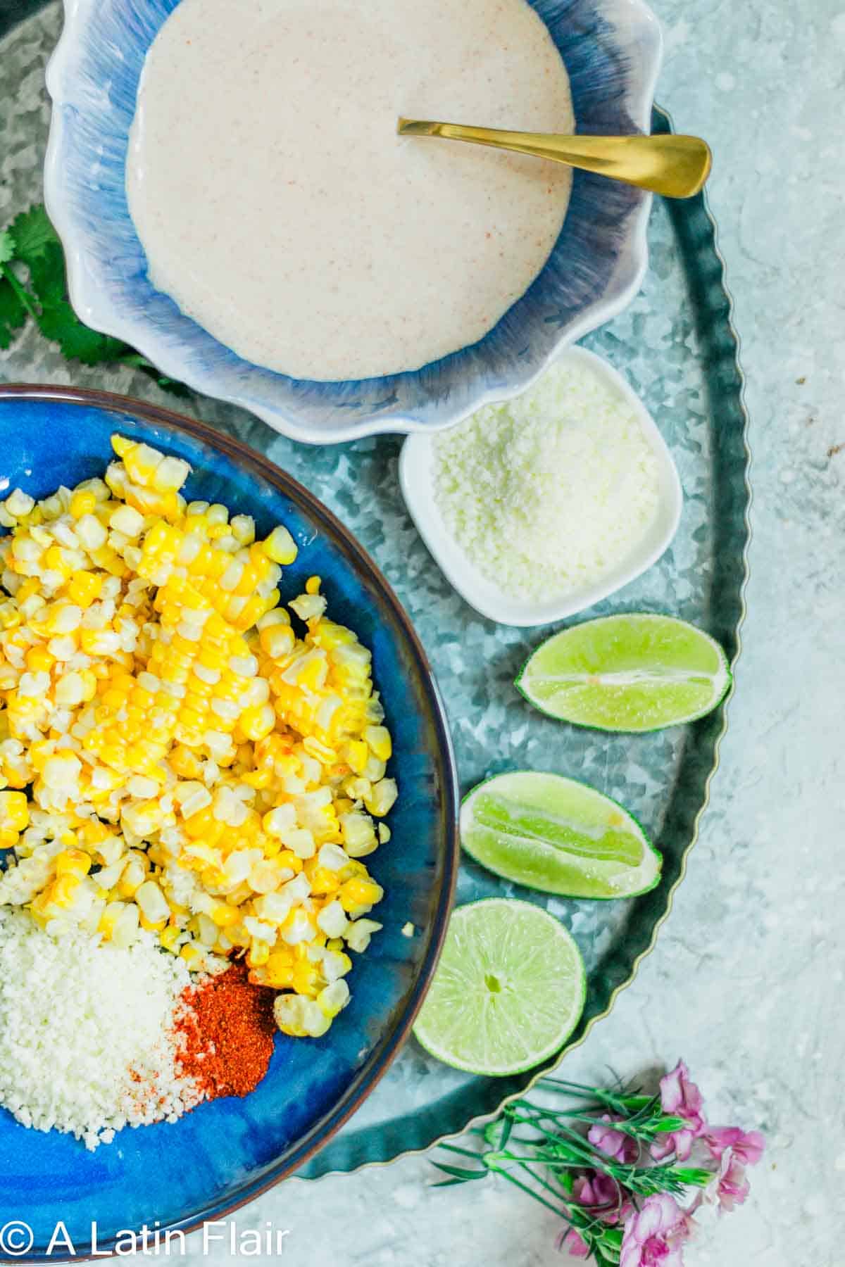
<svg viewBox="0 0 845 1267">
<path fill-rule="evenodd" d="M 60 20 L 57 5 L 0 0 L 0 224 L 41 200 L 49 115 L 43 66 Z M 654 131 L 669 129 L 668 115 L 655 110 Z M 684 488 L 682 525 L 669 552 L 588 614 L 669 612 L 707 628 L 734 661 L 746 579 L 749 451 L 731 299 L 703 196 L 655 205 L 642 291 L 585 345 L 612 361 L 640 393 L 671 449 Z M 33 332 L 0 353 L 0 379 L 73 381 L 168 403 L 142 375 L 68 366 Z M 608 792 L 650 831 L 664 855 L 664 874 L 659 888 L 640 898 L 590 903 L 518 895 L 554 911 L 584 953 L 587 1007 L 570 1047 L 583 1043 L 631 983 L 671 910 L 718 764 L 726 707 L 692 726 L 642 736 L 603 736 L 543 717 L 518 696 L 513 678 L 549 631 L 497 626 L 451 590 L 402 503 L 399 438 L 317 450 L 205 398 L 177 407 L 267 454 L 317 493 L 372 554 L 433 663 L 465 791 L 514 765 L 556 770 Z M 462 867 L 459 901 L 513 891 L 475 864 Z M 356 1116 L 300 1173 L 317 1178 L 424 1149 L 494 1112 L 541 1072 L 475 1078 L 437 1064 L 410 1041 Z"/>
</svg>

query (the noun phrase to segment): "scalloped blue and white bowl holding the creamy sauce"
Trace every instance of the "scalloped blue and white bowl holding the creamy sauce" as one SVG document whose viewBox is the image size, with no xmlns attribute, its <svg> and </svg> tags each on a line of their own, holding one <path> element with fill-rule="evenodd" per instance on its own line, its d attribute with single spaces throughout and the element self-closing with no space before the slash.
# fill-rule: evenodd
<svg viewBox="0 0 845 1267">
<path fill-rule="evenodd" d="M 580 133 L 646 132 L 661 35 L 642 0 L 530 0 L 569 72 Z M 348 383 L 288 378 L 236 356 L 156 290 L 127 205 L 129 127 L 147 49 L 179 0 L 65 0 L 47 71 L 53 115 L 47 210 L 67 255 L 71 300 L 95 329 L 172 378 L 326 443 L 448 427 L 524 390 L 568 343 L 614 317 L 646 267 L 650 195 L 575 172 L 540 276 L 471 347 L 421 370 Z"/>
</svg>

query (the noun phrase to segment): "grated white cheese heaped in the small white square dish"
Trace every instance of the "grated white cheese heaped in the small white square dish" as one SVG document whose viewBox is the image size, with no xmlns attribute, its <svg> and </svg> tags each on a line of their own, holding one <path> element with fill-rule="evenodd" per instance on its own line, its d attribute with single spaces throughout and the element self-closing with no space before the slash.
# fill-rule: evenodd
<svg viewBox="0 0 845 1267">
<path fill-rule="evenodd" d="M 564 359 L 437 437 L 435 500 L 500 590 L 552 598 L 600 580 L 642 540 L 658 461 L 622 393 Z"/>
</svg>

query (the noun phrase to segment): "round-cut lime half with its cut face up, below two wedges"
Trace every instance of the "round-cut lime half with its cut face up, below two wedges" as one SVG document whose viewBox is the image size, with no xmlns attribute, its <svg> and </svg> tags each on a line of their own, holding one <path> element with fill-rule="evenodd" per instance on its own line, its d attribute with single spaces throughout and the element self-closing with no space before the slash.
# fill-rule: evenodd
<svg viewBox="0 0 845 1267">
<path fill-rule="evenodd" d="M 490 897 L 452 912 L 414 1025 L 427 1052 L 469 1073 L 521 1073 L 559 1052 L 584 1011 L 584 963 L 531 902 Z"/>
</svg>

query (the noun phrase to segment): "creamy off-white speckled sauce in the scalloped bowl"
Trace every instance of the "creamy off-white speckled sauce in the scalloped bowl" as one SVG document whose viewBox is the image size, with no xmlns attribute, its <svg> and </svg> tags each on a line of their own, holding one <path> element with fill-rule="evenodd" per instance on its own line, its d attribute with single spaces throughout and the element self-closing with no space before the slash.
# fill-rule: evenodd
<svg viewBox="0 0 845 1267">
<path fill-rule="evenodd" d="M 399 115 L 573 129 L 526 0 L 182 0 L 127 165 L 153 285 L 304 379 L 418 369 L 481 338 L 560 233 L 570 172 Z"/>
</svg>

